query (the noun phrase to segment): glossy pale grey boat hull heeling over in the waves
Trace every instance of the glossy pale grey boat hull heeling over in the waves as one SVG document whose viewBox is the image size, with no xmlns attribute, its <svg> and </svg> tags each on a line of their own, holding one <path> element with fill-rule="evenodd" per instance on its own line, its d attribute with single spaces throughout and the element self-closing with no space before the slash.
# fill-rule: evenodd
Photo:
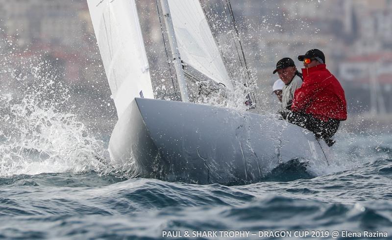
<svg viewBox="0 0 392 240">
<path fill-rule="evenodd" d="M 327 165 L 306 129 L 220 107 L 135 98 L 113 130 L 112 164 L 133 176 L 197 184 L 247 184 L 279 164 Z"/>
</svg>

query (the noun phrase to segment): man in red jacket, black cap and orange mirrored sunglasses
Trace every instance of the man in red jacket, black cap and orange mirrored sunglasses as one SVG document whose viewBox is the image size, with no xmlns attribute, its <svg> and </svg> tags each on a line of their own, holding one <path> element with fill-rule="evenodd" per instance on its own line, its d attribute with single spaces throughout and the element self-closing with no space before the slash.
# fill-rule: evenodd
<svg viewBox="0 0 392 240">
<path fill-rule="evenodd" d="M 286 117 L 291 123 L 307 128 L 316 137 L 332 146 L 330 138 L 347 119 L 344 91 L 338 79 L 326 69 L 325 56 L 319 49 L 311 49 L 298 56 L 303 61 L 303 83 L 295 90 L 291 113 Z"/>
</svg>

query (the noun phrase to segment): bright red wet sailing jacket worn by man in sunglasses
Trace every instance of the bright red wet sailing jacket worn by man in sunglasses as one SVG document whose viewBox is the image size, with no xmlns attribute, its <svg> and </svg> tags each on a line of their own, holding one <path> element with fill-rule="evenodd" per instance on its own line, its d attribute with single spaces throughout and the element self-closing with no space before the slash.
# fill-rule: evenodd
<svg viewBox="0 0 392 240">
<path fill-rule="evenodd" d="M 294 92 L 291 110 L 323 121 L 346 120 L 347 103 L 343 88 L 325 64 L 302 69 L 302 74 L 303 83 Z"/>
</svg>

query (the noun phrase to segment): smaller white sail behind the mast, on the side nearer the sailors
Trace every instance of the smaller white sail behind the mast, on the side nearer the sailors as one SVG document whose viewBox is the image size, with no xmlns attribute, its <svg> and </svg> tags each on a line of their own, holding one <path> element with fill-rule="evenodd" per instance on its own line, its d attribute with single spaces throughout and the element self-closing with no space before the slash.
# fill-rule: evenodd
<svg viewBox="0 0 392 240">
<path fill-rule="evenodd" d="M 221 54 L 198 0 L 168 0 L 181 59 L 232 89 Z"/>
</svg>

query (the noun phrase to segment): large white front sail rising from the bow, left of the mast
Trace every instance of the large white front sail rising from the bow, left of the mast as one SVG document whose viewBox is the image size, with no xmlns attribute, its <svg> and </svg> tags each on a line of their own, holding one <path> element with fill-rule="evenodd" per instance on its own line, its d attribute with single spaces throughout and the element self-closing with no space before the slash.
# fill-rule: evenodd
<svg viewBox="0 0 392 240">
<path fill-rule="evenodd" d="M 135 97 L 154 98 L 135 0 L 87 0 L 117 115 Z"/>
</svg>

